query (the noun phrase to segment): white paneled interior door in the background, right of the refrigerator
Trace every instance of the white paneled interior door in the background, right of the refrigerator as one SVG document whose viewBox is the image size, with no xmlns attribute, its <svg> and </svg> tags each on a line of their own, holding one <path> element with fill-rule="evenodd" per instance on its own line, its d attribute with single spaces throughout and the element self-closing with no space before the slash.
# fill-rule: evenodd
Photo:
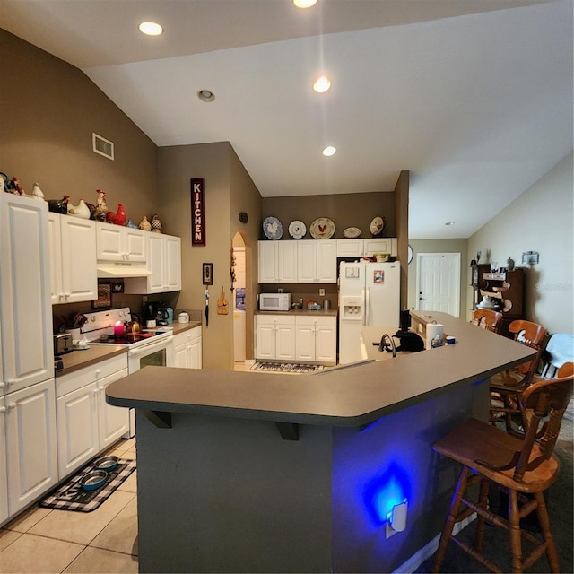
<svg viewBox="0 0 574 574">
<path fill-rule="evenodd" d="M 460 253 L 417 254 L 418 305 L 421 311 L 460 311 Z"/>
</svg>

